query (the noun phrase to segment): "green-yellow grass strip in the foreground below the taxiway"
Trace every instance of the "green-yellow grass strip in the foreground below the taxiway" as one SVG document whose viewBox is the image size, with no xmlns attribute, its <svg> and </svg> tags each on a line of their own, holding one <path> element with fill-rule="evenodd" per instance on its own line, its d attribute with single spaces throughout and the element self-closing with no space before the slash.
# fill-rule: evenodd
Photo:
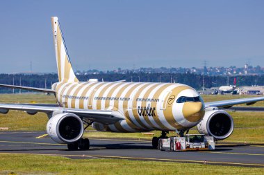
<svg viewBox="0 0 264 175">
<path fill-rule="evenodd" d="M 191 168 L 190 168 L 191 167 Z M 263 168 L 1 154 L 0 174 L 263 174 Z"/>
</svg>

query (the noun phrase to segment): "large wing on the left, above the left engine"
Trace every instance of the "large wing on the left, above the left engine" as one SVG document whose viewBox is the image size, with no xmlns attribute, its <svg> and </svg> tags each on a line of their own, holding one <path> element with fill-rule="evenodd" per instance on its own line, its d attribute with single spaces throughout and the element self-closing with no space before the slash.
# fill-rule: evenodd
<svg viewBox="0 0 264 175">
<path fill-rule="evenodd" d="M 0 104 L 0 113 L 8 113 L 9 110 L 26 111 L 28 114 L 43 112 L 52 114 L 54 111 L 62 113 L 74 113 L 81 118 L 103 124 L 113 124 L 119 120 L 124 120 L 124 116 L 119 111 L 112 110 L 92 110 L 92 109 L 71 109 L 56 107 L 55 104 Z"/>
</svg>

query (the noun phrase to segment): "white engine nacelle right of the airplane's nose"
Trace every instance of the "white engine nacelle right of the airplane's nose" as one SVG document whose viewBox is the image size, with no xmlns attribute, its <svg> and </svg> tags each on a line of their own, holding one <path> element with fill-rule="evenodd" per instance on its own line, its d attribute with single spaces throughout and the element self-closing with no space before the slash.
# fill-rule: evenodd
<svg viewBox="0 0 264 175">
<path fill-rule="evenodd" d="M 224 140 L 233 132 L 233 118 L 226 111 L 206 111 L 203 120 L 197 125 L 199 133 L 213 136 L 216 140 Z"/>
</svg>

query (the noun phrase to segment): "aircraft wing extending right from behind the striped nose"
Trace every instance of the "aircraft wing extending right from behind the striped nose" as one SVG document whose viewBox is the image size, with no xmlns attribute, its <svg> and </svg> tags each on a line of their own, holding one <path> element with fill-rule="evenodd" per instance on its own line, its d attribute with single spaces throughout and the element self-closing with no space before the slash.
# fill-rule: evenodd
<svg viewBox="0 0 264 175">
<path fill-rule="evenodd" d="M 247 104 L 251 105 L 259 101 L 264 101 L 264 97 L 258 98 L 240 98 L 234 100 L 222 100 L 216 102 L 205 102 L 205 107 L 222 107 L 222 108 L 229 108 L 236 104 Z"/>
</svg>

